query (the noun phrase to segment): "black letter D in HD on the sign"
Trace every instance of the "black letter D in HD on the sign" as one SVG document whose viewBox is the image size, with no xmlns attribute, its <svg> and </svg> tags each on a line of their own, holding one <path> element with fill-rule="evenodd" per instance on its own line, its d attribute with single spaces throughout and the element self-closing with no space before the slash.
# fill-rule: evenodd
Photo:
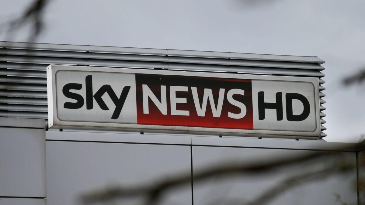
<svg viewBox="0 0 365 205">
<path fill-rule="evenodd" d="M 300 115 L 293 115 L 293 100 L 299 100 L 303 104 L 303 112 Z M 285 94 L 285 102 L 287 104 L 287 120 L 288 121 L 302 121 L 307 119 L 311 111 L 311 107 L 306 97 L 299 93 Z"/>
</svg>

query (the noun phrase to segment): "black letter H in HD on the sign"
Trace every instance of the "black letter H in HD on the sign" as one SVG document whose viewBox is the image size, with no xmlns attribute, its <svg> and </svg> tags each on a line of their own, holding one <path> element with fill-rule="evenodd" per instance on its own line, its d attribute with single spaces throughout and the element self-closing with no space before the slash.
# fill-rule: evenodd
<svg viewBox="0 0 365 205">
<path fill-rule="evenodd" d="M 276 120 L 283 120 L 283 100 L 280 92 L 276 93 L 276 102 L 265 102 L 264 92 L 258 92 L 258 119 L 265 119 L 265 109 L 276 109 Z"/>
</svg>

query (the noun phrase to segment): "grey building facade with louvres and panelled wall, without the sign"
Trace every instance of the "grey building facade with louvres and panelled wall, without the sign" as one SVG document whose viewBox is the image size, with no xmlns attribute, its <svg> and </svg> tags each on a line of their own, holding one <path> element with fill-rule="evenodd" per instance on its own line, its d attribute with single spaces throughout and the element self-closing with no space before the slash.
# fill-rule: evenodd
<svg viewBox="0 0 365 205">
<path fill-rule="evenodd" d="M 322 139 L 126 132 L 49 128 L 46 68 L 53 65 L 314 77 L 319 82 L 320 129 L 324 63 L 317 57 L 0 42 L 0 204 L 80 204 L 80 196 L 122 185 L 155 184 L 180 173 L 191 176 L 227 162 L 247 165 L 307 153 L 342 153 L 357 163 L 364 146 Z M 321 132 L 321 137 L 326 136 Z M 330 160 L 336 157 L 330 155 Z M 318 164 L 319 163 L 319 164 Z M 160 204 L 225 204 L 252 201 L 324 161 L 280 167 L 275 173 L 191 178 L 168 190 Z M 354 189 L 363 167 L 283 190 L 268 204 L 360 204 Z M 334 195 L 335 194 L 335 195 Z M 337 195 L 338 194 L 338 195 Z M 141 202 L 143 197 L 128 198 Z"/>
</svg>

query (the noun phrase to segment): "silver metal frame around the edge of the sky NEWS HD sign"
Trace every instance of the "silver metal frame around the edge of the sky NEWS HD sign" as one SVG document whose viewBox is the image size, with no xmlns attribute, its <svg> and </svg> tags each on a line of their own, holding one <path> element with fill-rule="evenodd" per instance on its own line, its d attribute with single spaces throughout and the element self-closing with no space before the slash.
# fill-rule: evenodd
<svg viewBox="0 0 365 205">
<path fill-rule="evenodd" d="M 55 75 L 60 70 L 310 82 L 314 86 L 314 100 L 315 100 L 314 111 L 316 119 L 315 122 L 316 128 L 313 132 L 303 132 L 303 131 L 282 131 L 282 130 L 279 131 L 279 130 L 258 130 L 258 129 L 226 129 L 226 128 L 207 128 L 207 127 L 63 121 L 60 120 L 59 117 L 57 116 L 57 95 L 55 92 L 56 90 Z M 159 132 L 159 133 L 167 132 L 167 133 L 177 133 L 177 134 L 253 136 L 253 137 L 295 138 L 295 139 L 318 139 L 320 138 L 321 135 L 319 83 L 318 83 L 318 78 L 312 78 L 312 77 L 264 76 L 264 75 L 251 75 L 251 74 L 208 73 L 208 72 L 196 72 L 196 71 L 172 71 L 172 70 L 156 70 L 156 69 L 129 69 L 129 68 L 111 68 L 111 67 L 50 65 L 47 67 L 47 96 L 48 96 L 49 128 L 96 129 L 96 130 L 101 129 L 101 130 L 134 131 L 134 132 Z"/>
</svg>

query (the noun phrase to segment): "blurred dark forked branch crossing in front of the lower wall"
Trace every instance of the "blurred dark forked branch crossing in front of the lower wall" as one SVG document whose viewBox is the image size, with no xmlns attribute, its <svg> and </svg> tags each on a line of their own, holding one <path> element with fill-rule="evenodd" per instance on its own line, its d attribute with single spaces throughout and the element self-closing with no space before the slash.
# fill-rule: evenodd
<svg viewBox="0 0 365 205">
<path fill-rule="evenodd" d="M 351 169 L 355 169 L 356 165 L 346 162 L 345 158 L 340 157 L 339 152 L 324 152 L 324 151 L 314 151 L 310 154 L 305 154 L 301 156 L 286 156 L 284 158 L 279 158 L 276 160 L 271 160 L 269 162 L 264 162 L 261 160 L 256 160 L 253 163 L 239 164 L 239 163 L 226 163 L 219 164 L 215 166 L 208 166 L 201 171 L 196 171 L 193 176 L 191 173 L 185 173 L 181 175 L 176 175 L 172 177 L 167 177 L 162 182 L 152 183 L 151 185 L 141 185 L 136 187 L 116 187 L 107 190 L 99 190 L 96 192 L 91 192 L 84 194 L 81 197 L 81 202 L 83 204 L 93 204 L 96 202 L 106 202 L 109 200 L 114 200 L 116 198 L 125 197 L 138 197 L 147 196 L 145 204 L 154 205 L 159 201 L 161 194 L 166 190 L 169 190 L 176 186 L 181 186 L 186 183 L 191 182 L 191 177 L 194 181 L 203 181 L 204 179 L 212 177 L 227 177 L 232 174 L 267 174 L 270 171 L 276 171 L 279 167 L 297 165 L 298 163 L 310 162 L 311 160 L 318 159 L 324 156 L 336 156 L 337 161 L 333 163 L 332 166 L 327 166 L 321 170 L 315 170 L 312 172 L 295 175 L 285 179 L 283 182 L 279 183 L 277 186 L 264 192 L 254 201 L 250 202 L 250 205 L 260 205 L 265 204 L 269 200 L 277 197 L 284 190 L 290 187 L 297 186 L 303 182 L 313 181 L 315 179 L 320 179 L 323 177 L 328 177 L 330 174 L 341 173 Z M 323 160 L 327 161 L 327 160 Z M 241 202 L 242 204 L 242 202 Z"/>
</svg>

